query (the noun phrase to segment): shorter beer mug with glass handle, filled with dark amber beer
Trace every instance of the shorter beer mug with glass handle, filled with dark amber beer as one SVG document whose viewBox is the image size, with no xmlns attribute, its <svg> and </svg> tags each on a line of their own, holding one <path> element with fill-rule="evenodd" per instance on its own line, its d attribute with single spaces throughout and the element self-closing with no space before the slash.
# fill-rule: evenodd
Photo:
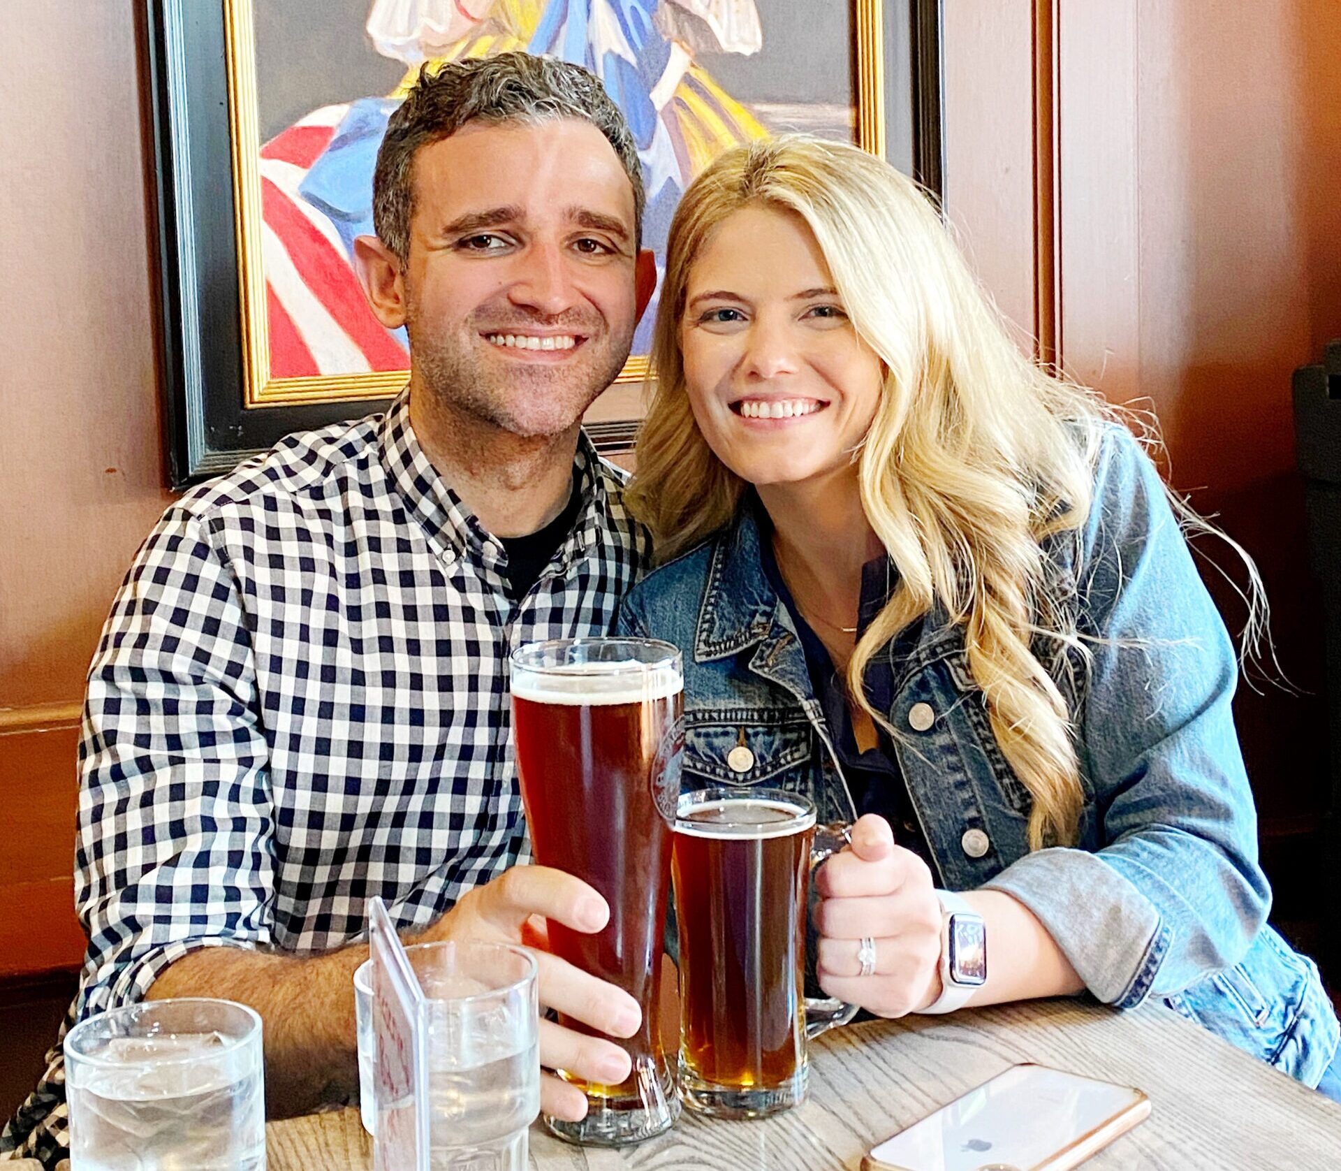
<svg viewBox="0 0 1341 1171">
<path fill-rule="evenodd" d="M 810 872 L 843 844 L 815 830 L 805 797 L 704 789 L 680 797 L 675 899 L 680 927 L 680 1095 L 717 1117 L 803 1101 L 806 1041 L 857 1007 L 807 999 Z"/>
</svg>

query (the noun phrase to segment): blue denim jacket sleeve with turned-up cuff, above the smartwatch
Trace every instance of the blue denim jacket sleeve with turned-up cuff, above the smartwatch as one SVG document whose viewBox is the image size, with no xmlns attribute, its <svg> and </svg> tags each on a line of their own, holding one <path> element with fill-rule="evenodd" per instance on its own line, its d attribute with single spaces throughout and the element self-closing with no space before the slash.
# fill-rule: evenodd
<svg viewBox="0 0 1341 1171">
<path fill-rule="evenodd" d="M 986 885 L 1039 917 L 1100 1001 L 1130 1007 L 1236 963 L 1271 895 L 1234 728 L 1234 648 L 1125 431 L 1101 451 L 1080 601 L 1084 848 L 1037 850 Z"/>
</svg>

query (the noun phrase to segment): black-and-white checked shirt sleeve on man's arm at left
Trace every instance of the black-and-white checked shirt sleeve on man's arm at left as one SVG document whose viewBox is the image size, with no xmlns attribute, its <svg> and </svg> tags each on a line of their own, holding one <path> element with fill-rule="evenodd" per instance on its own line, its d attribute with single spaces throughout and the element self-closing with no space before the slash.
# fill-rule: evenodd
<svg viewBox="0 0 1341 1171">
<path fill-rule="evenodd" d="M 201 947 L 270 942 L 268 748 L 237 583 L 208 522 L 169 510 L 89 673 L 75 907 L 78 1015 L 141 999 Z"/>
</svg>

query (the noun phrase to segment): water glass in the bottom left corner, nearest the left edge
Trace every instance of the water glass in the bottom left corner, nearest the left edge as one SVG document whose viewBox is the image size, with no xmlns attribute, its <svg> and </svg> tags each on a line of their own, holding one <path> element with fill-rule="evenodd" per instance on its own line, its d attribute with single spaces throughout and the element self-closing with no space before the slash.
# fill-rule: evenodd
<svg viewBox="0 0 1341 1171">
<path fill-rule="evenodd" d="M 260 1017 L 232 1001 L 146 1001 L 66 1034 L 71 1171 L 264 1171 Z"/>
</svg>

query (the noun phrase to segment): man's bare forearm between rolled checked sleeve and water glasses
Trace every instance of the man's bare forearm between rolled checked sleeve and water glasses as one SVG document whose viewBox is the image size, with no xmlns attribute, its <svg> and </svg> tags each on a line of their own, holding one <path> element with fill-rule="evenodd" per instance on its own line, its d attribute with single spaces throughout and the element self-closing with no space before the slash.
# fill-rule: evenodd
<svg viewBox="0 0 1341 1171">
<path fill-rule="evenodd" d="M 358 1097 L 354 970 L 367 944 L 314 956 L 207 947 L 169 966 L 149 997 L 220 997 L 260 1013 L 266 1104 L 274 1117 Z"/>
</svg>

